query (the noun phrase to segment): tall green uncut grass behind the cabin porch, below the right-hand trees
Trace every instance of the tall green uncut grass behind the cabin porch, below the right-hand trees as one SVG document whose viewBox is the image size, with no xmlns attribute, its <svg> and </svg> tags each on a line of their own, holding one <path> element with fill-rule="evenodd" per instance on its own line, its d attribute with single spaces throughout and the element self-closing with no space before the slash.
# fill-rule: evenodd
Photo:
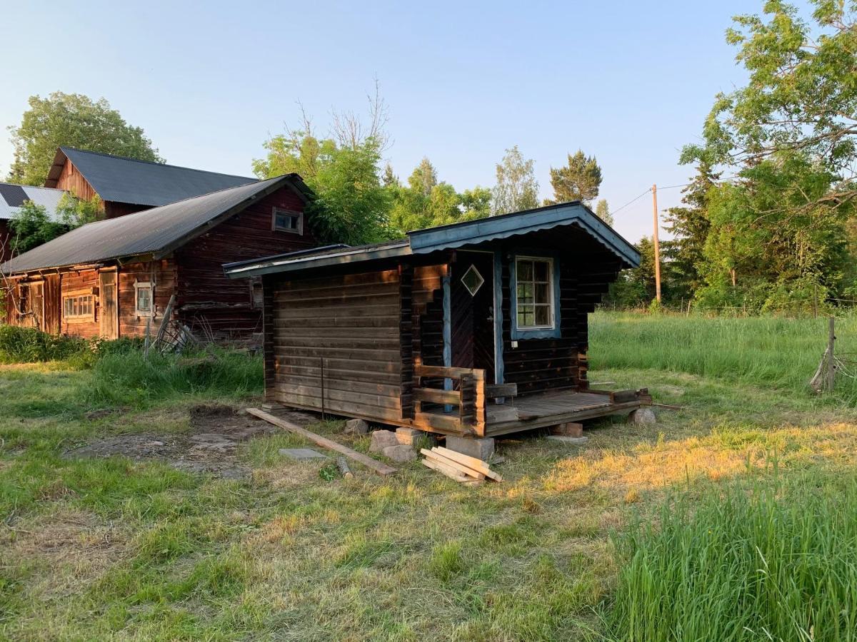
<svg viewBox="0 0 857 642">
<path fill-rule="evenodd" d="M 826 318 L 596 312 L 590 361 L 596 368 L 686 372 L 806 393 L 827 335 Z M 837 353 L 857 359 L 857 316 L 836 318 L 836 337 Z M 857 403 L 857 380 L 838 377 L 836 393 Z"/>
</svg>

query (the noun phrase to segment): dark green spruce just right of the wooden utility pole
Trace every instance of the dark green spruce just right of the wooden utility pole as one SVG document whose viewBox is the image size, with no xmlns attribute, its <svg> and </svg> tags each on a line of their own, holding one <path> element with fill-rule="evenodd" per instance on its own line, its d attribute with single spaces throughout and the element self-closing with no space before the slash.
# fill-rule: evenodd
<svg viewBox="0 0 857 642">
<path fill-rule="evenodd" d="M 710 229 L 709 194 L 719 178 L 707 164 L 699 163 L 697 175 L 682 190 L 684 205 L 670 207 L 664 216 L 664 229 L 673 235 L 672 240 L 661 244 L 664 276 L 672 283 L 674 293 L 687 300 L 703 285 L 700 270 Z"/>
</svg>

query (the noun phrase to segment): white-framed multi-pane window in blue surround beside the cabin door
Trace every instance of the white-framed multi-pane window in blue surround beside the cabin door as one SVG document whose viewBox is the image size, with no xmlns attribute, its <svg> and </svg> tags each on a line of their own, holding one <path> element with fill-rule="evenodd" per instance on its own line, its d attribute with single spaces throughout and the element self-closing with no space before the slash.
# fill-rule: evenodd
<svg viewBox="0 0 857 642">
<path fill-rule="evenodd" d="M 515 303 L 518 330 L 554 328 L 554 259 L 515 258 Z"/>
</svg>

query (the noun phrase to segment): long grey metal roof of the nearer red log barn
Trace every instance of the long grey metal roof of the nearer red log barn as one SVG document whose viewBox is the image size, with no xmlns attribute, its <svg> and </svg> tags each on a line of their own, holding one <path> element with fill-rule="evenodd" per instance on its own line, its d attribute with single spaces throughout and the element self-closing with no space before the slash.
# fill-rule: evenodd
<svg viewBox="0 0 857 642">
<path fill-rule="evenodd" d="M 309 194 L 309 187 L 303 184 L 300 176 L 287 174 L 123 217 L 88 223 L 9 259 L 0 265 L 0 272 L 15 274 L 87 265 L 144 254 L 163 257 L 255 200 L 286 185 L 293 187 L 304 199 Z"/>
</svg>

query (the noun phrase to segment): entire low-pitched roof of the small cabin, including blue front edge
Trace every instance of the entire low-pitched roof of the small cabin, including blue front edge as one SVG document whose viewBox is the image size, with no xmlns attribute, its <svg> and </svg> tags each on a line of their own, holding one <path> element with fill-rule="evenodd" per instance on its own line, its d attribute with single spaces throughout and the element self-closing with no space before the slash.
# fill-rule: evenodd
<svg viewBox="0 0 857 642">
<path fill-rule="evenodd" d="M 546 229 L 573 226 L 583 229 L 593 239 L 614 253 L 628 268 L 638 267 L 640 254 L 607 223 L 579 201 L 548 205 L 534 210 L 480 218 L 476 221 L 452 223 L 436 228 L 408 232 L 405 239 L 385 241 L 358 247 L 321 247 L 315 251 L 278 254 L 252 261 L 241 261 L 223 266 L 226 276 L 242 278 L 273 272 L 291 272 L 312 268 L 345 265 L 428 254 L 438 250 L 474 246 L 486 241 L 506 239 Z"/>
</svg>

